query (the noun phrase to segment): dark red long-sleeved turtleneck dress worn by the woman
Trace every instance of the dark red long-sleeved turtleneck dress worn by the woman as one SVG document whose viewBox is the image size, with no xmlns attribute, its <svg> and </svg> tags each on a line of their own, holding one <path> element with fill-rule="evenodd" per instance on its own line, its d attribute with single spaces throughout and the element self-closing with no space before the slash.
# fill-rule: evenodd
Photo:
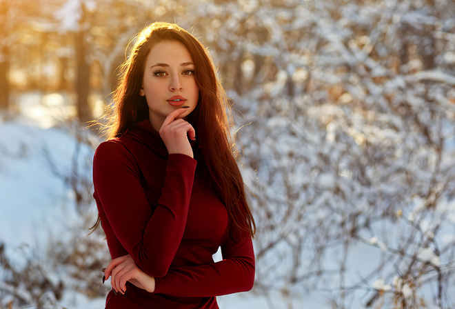
<svg viewBox="0 0 455 309">
<path fill-rule="evenodd" d="M 203 162 L 196 165 L 168 155 L 148 119 L 97 148 L 94 199 L 110 255 L 130 254 L 156 280 L 154 293 L 130 283 L 125 295 L 111 290 L 106 309 L 218 308 L 217 295 L 252 288 L 251 237 L 230 222 Z M 214 263 L 220 246 L 223 261 Z"/>
</svg>

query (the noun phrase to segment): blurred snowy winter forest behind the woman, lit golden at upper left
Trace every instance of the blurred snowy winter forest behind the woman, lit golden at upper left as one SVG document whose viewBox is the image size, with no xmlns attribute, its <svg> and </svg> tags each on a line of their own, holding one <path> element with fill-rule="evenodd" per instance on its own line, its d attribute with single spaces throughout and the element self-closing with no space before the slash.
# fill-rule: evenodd
<svg viewBox="0 0 455 309">
<path fill-rule="evenodd" d="M 153 21 L 232 101 L 256 279 L 220 308 L 455 307 L 454 1 L 0 0 L 0 308 L 104 308 L 87 123 Z"/>
</svg>

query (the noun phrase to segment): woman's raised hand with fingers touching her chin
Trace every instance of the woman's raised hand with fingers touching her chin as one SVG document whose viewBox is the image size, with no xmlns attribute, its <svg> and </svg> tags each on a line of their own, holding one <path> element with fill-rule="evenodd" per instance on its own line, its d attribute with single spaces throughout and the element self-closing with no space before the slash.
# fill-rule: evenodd
<svg viewBox="0 0 455 309">
<path fill-rule="evenodd" d="M 170 112 L 164 119 L 163 125 L 159 129 L 159 134 L 166 148 L 168 148 L 169 154 L 181 153 L 182 155 L 193 157 L 193 150 L 188 137 L 195 140 L 196 131 L 194 131 L 193 126 L 188 121 L 181 118 L 177 119 L 184 112 L 186 112 L 186 108 L 179 108 Z"/>
</svg>

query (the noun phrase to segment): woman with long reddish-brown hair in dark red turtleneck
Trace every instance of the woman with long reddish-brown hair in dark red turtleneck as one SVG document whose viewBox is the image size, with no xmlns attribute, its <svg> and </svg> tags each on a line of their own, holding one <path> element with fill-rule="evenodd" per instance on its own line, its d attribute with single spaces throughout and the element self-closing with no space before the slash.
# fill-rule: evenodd
<svg viewBox="0 0 455 309">
<path fill-rule="evenodd" d="M 254 219 L 208 51 L 171 23 L 136 37 L 94 155 L 106 308 L 218 308 L 254 283 Z M 221 247 L 223 261 L 212 255 Z"/>
</svg>

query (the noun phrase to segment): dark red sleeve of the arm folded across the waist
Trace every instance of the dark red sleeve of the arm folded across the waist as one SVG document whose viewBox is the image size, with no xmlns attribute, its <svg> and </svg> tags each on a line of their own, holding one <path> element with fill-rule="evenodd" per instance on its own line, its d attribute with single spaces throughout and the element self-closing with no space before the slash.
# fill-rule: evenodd
<svg viewBox="0 0 455 309">
<path fill-rule="evenodd" d="M 172 297 L 214 297 L 251 290 L 254 283 L 254 251 L 250 235 L 228 237 L 221 247 L 223 261 L 200 266 L 170 268 L 155 279 L 155 293 Z"/>
</svg>

